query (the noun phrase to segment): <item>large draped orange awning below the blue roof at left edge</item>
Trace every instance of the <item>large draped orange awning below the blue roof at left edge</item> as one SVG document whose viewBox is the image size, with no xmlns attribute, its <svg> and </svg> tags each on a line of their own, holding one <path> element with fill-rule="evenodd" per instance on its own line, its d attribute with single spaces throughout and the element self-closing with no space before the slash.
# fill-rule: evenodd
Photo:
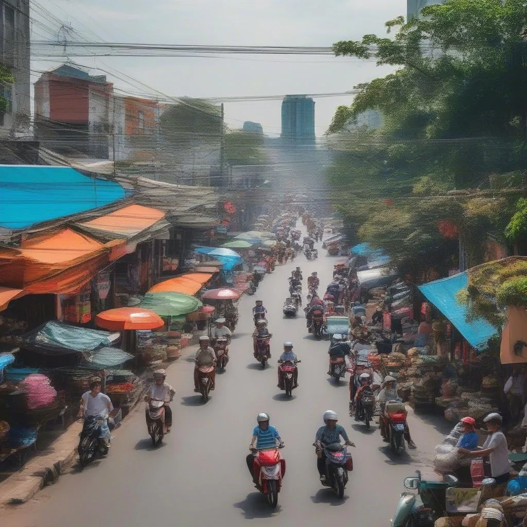
<svg viewBox="0 0 527 527">
<path fill-rule="evenodd" d="M 124 240 L 102 243 L 71 229 L 0 249 L 0 282 L 26 293 L 72 293 L 118 258 Z"/>
</svg>

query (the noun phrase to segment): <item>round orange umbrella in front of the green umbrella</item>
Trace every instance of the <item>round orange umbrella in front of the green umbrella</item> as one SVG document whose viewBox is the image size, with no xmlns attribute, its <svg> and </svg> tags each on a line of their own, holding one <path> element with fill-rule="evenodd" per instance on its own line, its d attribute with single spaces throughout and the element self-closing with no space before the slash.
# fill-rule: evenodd
<svg viewBox="0 0 527 527">
<path fill-rule="evenodd" d="M 119 307 L 102 311 L 96 315 L 95 324 L 104 329 L 122 331 L 121 348 L 134 352 L 137 347 L 135 330 L 158 329 L 164 326 L 164 321 L 149 309 Z"/>
</svg>

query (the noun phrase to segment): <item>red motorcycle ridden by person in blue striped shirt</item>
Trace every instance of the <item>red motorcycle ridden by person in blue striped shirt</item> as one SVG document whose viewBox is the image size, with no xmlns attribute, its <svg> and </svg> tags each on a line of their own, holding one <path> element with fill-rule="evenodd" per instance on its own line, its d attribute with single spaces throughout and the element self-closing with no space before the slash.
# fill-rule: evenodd
<svg viewBox="0 0 527 527">
<path fill-rule="evenodd" d="M 257 450 L 251 448 L 251 452 L 257 453 L 253 462 L 253 474 L 256 488 L 267 495 L 267 501 L 272 509 L 278 505 L 278 493 L 282 487 L 282 478 L 286 473 L 286 460 L 280 456 L 279 448 L 262 448 Z"/>
</svg>

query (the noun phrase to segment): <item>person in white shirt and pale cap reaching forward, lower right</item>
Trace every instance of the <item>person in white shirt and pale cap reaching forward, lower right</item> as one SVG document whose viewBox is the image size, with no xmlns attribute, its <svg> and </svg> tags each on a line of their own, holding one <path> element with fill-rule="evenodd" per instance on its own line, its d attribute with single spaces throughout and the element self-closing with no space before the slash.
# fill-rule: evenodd
<svg viewBox="0 0 527 527">
<path fill-rule="evenodd" d="M 509 448 L 503 432 L 500 430 L 503 418 L 495 412 L 487 415 L 483 422 L 489 429 L 489 437 L 481 447 L 481 450 L 460 448 L 460 453 L 469 457 L 489 456 L 491 463 L 491 476 L 496 480 L 497 485 L 507 483 L 510 478 L 511 464 L 509 463 Z"/>
</svg>

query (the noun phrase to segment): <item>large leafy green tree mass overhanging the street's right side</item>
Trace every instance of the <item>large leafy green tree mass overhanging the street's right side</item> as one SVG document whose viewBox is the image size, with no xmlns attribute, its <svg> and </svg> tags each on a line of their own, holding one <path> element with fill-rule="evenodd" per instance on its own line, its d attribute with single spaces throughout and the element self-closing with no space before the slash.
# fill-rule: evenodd
<svg viewBox="0 0 527 527">
<path fill-rule="evenodd" d="M 526 9 L 523 0 L 447 0 L 386 22 L 387 36 L 333 46 L 337 56 L 395 67 L 337 109 L 329 180 L 347 193 L 339 209 L 359 239 L 414 279 L 454 265 L 458 237 L 470 265 L 485 260 L 487 239 L 504 240 L 512 211 L 500 191 L 517 188 L 527 161 Z M 367 111 L 384 125 L 353 125 Z M 388 198 L 393 210 L 379 210 Z M 527 226 L 518 213 L 516 230 Z"/>
</svg>

